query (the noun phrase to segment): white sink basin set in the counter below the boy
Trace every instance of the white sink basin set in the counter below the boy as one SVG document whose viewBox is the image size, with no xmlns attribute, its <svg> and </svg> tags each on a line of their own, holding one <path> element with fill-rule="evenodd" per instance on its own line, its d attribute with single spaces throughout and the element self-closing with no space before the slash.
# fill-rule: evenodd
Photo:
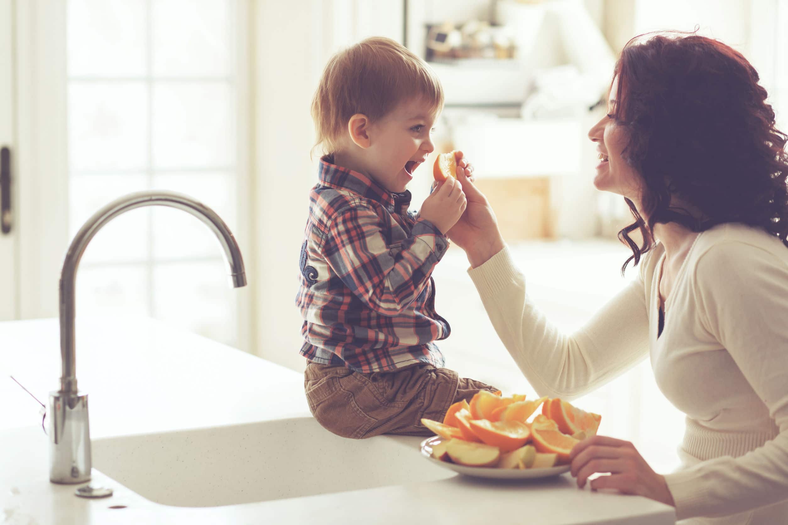
<svg viewBox="0 0 788 525">
<path fill-rule="evenodd" d="M 450 478 L 423 438 L 355 440 L 311 417 L 92 441 L 93 467 L 162 505 L 217 507 Z"/>
</svg>

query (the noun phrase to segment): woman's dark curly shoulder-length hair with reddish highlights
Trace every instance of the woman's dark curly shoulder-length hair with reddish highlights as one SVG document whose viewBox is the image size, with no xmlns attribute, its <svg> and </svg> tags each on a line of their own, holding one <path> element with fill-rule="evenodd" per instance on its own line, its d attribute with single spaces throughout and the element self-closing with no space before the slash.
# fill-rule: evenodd
<svg viewBox="0 0 788 525">
<path fill-rule="evenodd" d="M 624 46 L 616 76 L 612 116 L 628 128 L 623 159 L 643 179 L 640 211 L 649 217 L 625 199 L 635 222 L 619 231 L 633 253 L 622 274 L 655 246 L 657 223 L 692 231 L 750 224 L 788 246 L 788 135 L 775 128 L 766 90 L 742 54 L 694 33 L 660 31 Z M 629 236 L 636 229 L 639 247 Z"/>
</svg>

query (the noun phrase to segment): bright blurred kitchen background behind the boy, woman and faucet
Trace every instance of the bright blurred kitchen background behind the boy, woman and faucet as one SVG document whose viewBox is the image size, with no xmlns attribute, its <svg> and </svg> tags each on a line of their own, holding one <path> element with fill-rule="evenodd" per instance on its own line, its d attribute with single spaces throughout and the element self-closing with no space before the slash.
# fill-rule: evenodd
<svg viewBox="0 0 788 525">
<path fill-rule="evenodd" d="M 102 205 L 176 190 L 229 224 L 249 286 L 229 286 L 214 236 L 194 217 L 138 209 L 88 247 L 77 322 L 152 316 L 303 370 L 294 299 L 316 181 L 310 99 L 331 54 L 385 35 L 440 76 L 438 148 L 474 163 L 530 296 L 570 332 L 637 271 L 620 274 L 623 198 L 591 183 L 597 102 L 628 39 L 696 26 L 749 58 L 788 129 L 781 0 L 0 0 L 0 146 L 12 168 L 0 320 L 58 316 L 65 250 Z M 431 179 L 429 163 L 416 172 L 414 209 Z M 467 267 L 454 247 L 434 273 L 437 310 L 452 325 L 440 344 L 447 366 L 530 397 Z M 600 433 L 634 442 L 656 471 L 678 465 L 683 418 L 648 360 L 577 405 L 601 413 Z"/>
</svg>

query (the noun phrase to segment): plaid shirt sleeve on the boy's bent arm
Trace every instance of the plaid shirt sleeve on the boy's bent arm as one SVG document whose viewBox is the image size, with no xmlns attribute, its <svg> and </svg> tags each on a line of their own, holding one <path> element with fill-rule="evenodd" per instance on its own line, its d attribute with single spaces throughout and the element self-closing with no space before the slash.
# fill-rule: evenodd
<svg viewBox="0 0 788 525">
<path fill-rule="evenodd" d="M 447 248 L 448 239 L 423 219 L 416 221 L 411 235 L 399 245 L 388 246 L 377 213 L 354 206 L 333 219 L 322 253 L 364 304 L 382 315 L 395 316 L 422 292 Z"/>
</svg>

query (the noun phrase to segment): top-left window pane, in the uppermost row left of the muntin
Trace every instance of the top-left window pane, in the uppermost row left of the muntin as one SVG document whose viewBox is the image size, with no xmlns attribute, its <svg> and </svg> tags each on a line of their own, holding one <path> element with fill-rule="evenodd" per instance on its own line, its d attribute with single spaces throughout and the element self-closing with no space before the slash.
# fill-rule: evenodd
<svg viewBox="0 0 788 525">
<path fill-rule="evenodd" d="M 69 0 L 69 76 L 147 73 L 147 9 L 139 0 Z"/>
</svg>

